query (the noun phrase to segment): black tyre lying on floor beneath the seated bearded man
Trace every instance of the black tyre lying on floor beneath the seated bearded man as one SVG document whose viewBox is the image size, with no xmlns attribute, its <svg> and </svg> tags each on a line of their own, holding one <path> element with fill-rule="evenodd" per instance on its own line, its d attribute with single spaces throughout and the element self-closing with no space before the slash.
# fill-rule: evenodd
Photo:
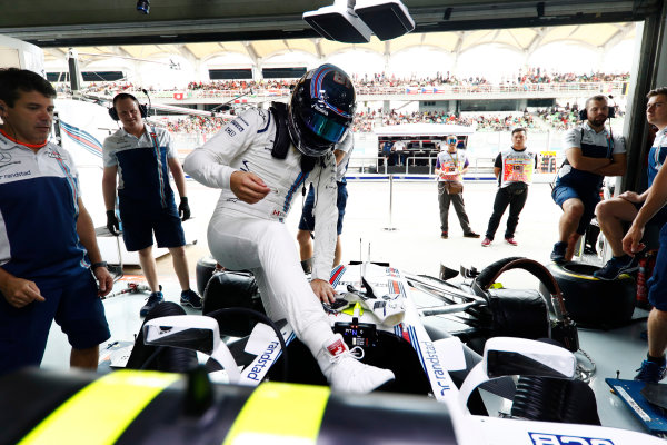
<svg viewBox="0 0 667 445">
<path fill-rule="evenodd" d="M 579 326 L 608 329 L 633 319 L 637 286 L 630 275 L 621 274 L 614 280 L 598 279 L 593 274 L 599 267 L 583 263 L 551 263 L 547 269 L 563 291 L 565 308 Z M 549 295 L 542 285 L 540 291 Z M 554 312 L 550 303 L 549 309 Z"/>
</svg>

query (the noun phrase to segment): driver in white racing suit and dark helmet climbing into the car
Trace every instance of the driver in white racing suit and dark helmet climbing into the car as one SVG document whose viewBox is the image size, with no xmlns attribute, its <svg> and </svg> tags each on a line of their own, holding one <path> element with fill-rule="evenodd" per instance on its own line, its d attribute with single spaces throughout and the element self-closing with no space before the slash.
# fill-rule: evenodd
<svg viewBox="0 0 667 445">
<path fill-rule="evenodd" d="M 358 362 L 331 330 L 321 304 L 336 299 L 329 284 L 338 216 L 334 147 L 351 126 L 355 108 L 348 75 L 322 65 L 297 82 L 289 107 L 247 110 L 188 155 L 185 170 L 221 189 L 207 237 L 216 260 L 252 271 L 267 315 L 289 322 L 334 390 L 368 393 L 394 373 Z M 310 284 L 283 224 L 306 182 L 317 196 Z"/>
</svg>

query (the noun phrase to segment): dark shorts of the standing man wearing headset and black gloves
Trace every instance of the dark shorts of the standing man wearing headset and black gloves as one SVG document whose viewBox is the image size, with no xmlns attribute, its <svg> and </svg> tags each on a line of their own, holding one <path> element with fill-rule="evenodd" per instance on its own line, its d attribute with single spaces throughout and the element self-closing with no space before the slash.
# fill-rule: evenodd
<svg viewBox="0 0 667 445">
<path fill-rule="evenodd" d="M 186 234 L 176 204 L 166 209 L 147 210 L 139 205 L 119 206 L 122 224 L 122 239 L 128 251 L 145 249 L 153 245 L 153 233 L 158 247 L 181 247 L 186 245 Z"/>
</svg>

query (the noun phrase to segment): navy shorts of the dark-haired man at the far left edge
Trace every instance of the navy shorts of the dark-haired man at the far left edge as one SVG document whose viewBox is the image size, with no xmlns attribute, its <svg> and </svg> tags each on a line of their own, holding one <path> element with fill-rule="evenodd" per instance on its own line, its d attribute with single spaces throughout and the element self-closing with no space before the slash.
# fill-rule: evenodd
<svg viewBox="0 0 667 445">
<path fill-rule="evenodd" d="M 81 268 L 66 283 L 34 280 L 46 301 L 22 308 L 0 294 L 0 374 L 39 366 L 53 319 L 74 349 L 88 349 L 109 339 L 104 307 L 89 269 Z"/>
</svg>

